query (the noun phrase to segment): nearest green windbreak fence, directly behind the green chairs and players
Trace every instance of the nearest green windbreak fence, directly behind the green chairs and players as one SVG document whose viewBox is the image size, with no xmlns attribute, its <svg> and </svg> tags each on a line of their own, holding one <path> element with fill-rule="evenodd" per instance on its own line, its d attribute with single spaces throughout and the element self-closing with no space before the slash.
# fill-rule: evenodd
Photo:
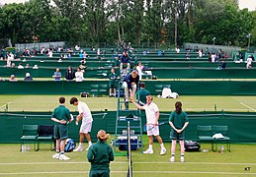
<svg viewBox="0 0 256 177">
<path fill-rule="evenodd" d="M 96 134 L 100 129 L 108 133 L 115 133 L 116 112 L 92 112 L 94 117 L 92 127 L 92 140 L 95 142 Z M 161 113 L 160 122 L 167 121 L 170 112 Z M 187 112 L 190 124 L 186 129 L 186 140 L 197 140 L 198 125 L 226 125 L 228 136 L 232 143 L 255 143 L 256 142 L 256 114 L 252 113 L 224 113 L 224 112 Z M 20 143 L 23 125 L 53 125 L 50 120 L 51 112 L 1 112 L 0 113 L 0 143 Z M 73 112 L 73 115 L 77 115 Z M 105 116 L 104 116 L 105 115 Z M 142 125 L 145 118 L 142 116 Z M 69 138 L 78 141 L 79 126 L 74 122 L 68 124 Z M 170 125 L 168 123 L 160 127 L 160 135 L 165 142 L 170 141 Z"/>
</svg>

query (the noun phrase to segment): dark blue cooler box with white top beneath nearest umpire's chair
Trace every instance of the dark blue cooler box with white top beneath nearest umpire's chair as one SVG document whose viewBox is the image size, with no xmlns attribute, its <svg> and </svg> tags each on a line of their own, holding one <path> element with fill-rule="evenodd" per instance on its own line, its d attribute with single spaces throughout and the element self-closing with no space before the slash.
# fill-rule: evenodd
<svg viewBox="0 0 256 177">
<path fill-rule="evenodd" d="M 127 150 L 128 149 L 128 136 L 120 136 L 118 137 L 118 144 L 120 150 Z M 137 136 L 130 136 L 130 149 L 136 150 L 137 149 Z"/>
</svg>

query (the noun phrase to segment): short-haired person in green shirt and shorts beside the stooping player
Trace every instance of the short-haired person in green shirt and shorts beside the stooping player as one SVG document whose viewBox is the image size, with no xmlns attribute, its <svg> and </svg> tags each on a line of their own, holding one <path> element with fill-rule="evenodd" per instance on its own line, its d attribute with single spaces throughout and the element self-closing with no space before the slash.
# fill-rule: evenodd
<svg viewBox="0 0 256 177">
<path fill-rule="evenodd" d="M 67 124 L 72 119 L 69 110 L 65 107 L 65 98 L 59 97 L 58 101 L 60 105 L 53 110 L 51 115 L 51 120 L 57 123 L 54 125 L 53 131 L 53 137 L 56 140 L 56 153 L 52 155 L 52 158 L 69 160 L 70 158 L 64 154 L 64 148 L 66 139 L 68 138 Z"/>
</svg>

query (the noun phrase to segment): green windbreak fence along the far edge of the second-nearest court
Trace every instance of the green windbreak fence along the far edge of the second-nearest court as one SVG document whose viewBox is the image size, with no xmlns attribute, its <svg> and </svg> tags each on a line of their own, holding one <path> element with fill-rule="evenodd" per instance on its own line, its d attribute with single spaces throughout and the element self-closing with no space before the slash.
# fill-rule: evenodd
<svg viewBox="0 0 256 177">
<path fill-rule="evenodd" d="M 94 94 L 108 95 L 100 91 L 101 86 L 109 84 L 109 80 L 76 82 L 0 82 L 0 94 L 79 94 L 80 92 L 92 92 Z M 255 95 L 255 81 L 157 81 L 145 80 L 146 89 L 151 94 L 161 94 L 164 87 L 169 87 L 180 95 Z M 95 85 L 98 89 L 95 90 Z M 160 88 L 160 89 L 159 89 Z"/>
</svg>

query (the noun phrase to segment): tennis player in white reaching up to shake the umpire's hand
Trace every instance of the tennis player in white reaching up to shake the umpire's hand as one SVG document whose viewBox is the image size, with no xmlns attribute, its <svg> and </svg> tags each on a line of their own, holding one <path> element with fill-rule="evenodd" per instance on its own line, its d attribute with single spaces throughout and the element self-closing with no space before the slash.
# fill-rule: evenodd
<svg viewBox="0 0 256 177">
<path fill-rule="evenodd" d="M 146 114 L 146 130 L 147 137 L 149 142 L 149 147 L 143 151 L 143 153 L 153 153 L 153 136 L 157 139 L 160 144 L 161 151 L 160 154 L 163 155 L 166 152 L 166 148 L 164 148 L 162 138 L 159 136 L 159 126 L 158 119 L 160 116 L 158 106 L 152 102 L 153 97 L 151 95 L 146 96 L 146 104 L 140 106 L 137 104 L 133 98 L 130 98 L 131 102 L 140 110 L 145 110 Z"/>
</svg>

